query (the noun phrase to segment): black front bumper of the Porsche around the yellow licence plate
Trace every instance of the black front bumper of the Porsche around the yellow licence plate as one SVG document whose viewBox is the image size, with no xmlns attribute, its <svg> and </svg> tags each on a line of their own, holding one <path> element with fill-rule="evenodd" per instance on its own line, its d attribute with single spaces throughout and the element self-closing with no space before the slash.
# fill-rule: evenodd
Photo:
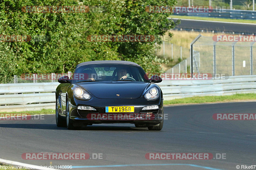
<svg viewBox="0 0 256 170">
<path fill-rule="evenodd" d="M 70 119 L 78 124 L 98 124 L 98 123 L 133 123 L 156 125 L 163 122 L 163 99 L 146 100 L 144 97 L 136 99 L 99 99 L 92 97 L 90 100 L 69 99 Z M 145 106 L 158 105 L 158 109 L 142 110 Z M 93 110 L 78 110 L 78 106 L 91 106 Z M 106 113 L 106 106 L 134 106 L 134 113 Z M 104 115 L 100 119 L 91 119 L 89 115 Z M 119 115 L 113 117 L 113 115 Z M 135 116 L 131 116 L 134 114 Z M 147 115 L 145 115 L 147 114 Z M 111 118 L 110 118 L 111 117 Z M 109 119 L 110 118 L 110 119 Z"/>
</svg>

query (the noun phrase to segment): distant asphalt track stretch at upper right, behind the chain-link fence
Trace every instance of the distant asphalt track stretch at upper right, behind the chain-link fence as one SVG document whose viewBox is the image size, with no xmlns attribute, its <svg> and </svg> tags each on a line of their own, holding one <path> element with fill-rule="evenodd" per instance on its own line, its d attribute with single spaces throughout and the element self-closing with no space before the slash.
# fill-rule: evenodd
<svg viewBox="0 0 256 170">
<path fill-rule="evenodd" d="M 173 19 L 177 21 L 177 19 Z M 235 32 L 235 33 L 256 33 L 256 24 L 237 24 L 237 23 L 224 23 L 224 22 L 211 22 L 206 20 L 196 21 L 196 20 L 186 20 L 182 19 L 180 24 L 175 28 L 183 29 L 194 29 L 194 30 L 207 30 L 207 31 L 224 31 L 224 32 Z"/>
</svg>

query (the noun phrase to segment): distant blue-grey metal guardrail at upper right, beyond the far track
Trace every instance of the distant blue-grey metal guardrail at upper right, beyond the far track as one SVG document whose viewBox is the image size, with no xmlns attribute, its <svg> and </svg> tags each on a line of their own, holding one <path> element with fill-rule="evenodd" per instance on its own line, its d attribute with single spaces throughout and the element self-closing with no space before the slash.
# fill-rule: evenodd
<svg viewBox="0 0 256 170">
<path fill-rule="evenodd" d="M 180 13 L 175 12 L 173 15 L 186 15 L 194 17 L 212 17 L 212 18 L 229 18 L 229 19 L 252 19 L 256 20 L 256 11 L 250 10 L 220 10 L 213 9 L 211 12 L 191 12 L 191 13 Z"/>
</svg>

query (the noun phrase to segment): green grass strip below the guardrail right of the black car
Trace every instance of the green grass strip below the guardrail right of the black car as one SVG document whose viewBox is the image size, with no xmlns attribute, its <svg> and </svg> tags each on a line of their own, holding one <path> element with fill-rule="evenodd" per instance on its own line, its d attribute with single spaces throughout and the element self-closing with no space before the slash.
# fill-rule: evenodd
<svg viewBox="0 0 256 170">
<path fill-rule="evenodd" d="M 256 100 L 256 93 L 234 94 L 228 96 L 202 96 L 188 97 L 183 99 L 164 100 L 164 105 L 184 103 L 211 103 L 211 102 L 232 102 L 237 100 Z"/>
</svg>

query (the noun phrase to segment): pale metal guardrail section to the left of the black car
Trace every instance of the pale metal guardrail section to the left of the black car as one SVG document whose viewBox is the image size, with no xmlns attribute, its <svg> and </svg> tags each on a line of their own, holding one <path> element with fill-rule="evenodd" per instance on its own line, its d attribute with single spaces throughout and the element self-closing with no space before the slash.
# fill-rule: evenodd
<svg viewBox="0 0 256 170">
<path fill-rule="evenodd" d="M 58 82 L 0 84 L 0 110 L 54 109 L 55 89 L 58 85 Z"/>
</svg>

